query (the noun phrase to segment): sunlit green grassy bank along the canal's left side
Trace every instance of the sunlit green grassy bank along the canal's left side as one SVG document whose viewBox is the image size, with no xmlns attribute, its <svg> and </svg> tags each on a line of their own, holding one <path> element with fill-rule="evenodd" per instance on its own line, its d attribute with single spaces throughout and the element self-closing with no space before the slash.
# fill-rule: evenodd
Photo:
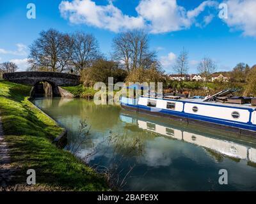
<svg viewBox="0 0 256 204">
<path fill-rule="evenodd" d="M 26 171 L 34 169 L 33 190 L 107 190 L 102 175 L 51 143 L 63 129 L 28 101 L 29 91 L 28 86 L 0 81 L 4 140 L 16 169 L 12 184 L 26 188 Z"/>
</svg>

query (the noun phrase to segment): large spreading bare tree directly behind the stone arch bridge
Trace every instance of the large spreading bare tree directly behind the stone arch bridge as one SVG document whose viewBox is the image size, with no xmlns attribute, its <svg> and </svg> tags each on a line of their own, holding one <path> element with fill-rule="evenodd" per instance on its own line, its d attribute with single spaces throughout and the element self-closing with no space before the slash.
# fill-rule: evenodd
<svg viewBox="0 0 256 204">
<path fill-rule="evenodd" d="M 70 63 L 72 40 L 68 34 L 55 29 L 42 31 L 40 37 L 29 47 L 29 63 L 34 69 L 64 71 Z"/>
</svg>

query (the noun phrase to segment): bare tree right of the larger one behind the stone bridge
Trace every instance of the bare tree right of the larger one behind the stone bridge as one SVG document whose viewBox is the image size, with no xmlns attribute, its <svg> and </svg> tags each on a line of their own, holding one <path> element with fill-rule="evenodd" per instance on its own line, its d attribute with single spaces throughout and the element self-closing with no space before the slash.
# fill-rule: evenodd
<svg viewBox="0 0 256 204">
<path fill-rule="evenodd" d="M 72 35 L 72 63 L 80 73 L 88 68 L 95 59 L 100 58 L 99 45 L 92 34 L 77 31 Z"/>
</svg>

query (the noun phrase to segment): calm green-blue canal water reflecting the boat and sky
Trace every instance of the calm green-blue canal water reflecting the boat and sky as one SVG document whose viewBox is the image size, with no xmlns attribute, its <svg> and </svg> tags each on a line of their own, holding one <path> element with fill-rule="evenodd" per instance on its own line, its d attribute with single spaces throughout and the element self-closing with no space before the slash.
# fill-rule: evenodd
<svg viewBox="0 0 256 204">
<path fill-rule="evenodd" d="M 34 103 L 68 130 L 68 150 L 124 190 L 256 190 L 252 139 L 86 99 Z M 220 184 L 220 170 L 228 184 Z"/>
</svg>

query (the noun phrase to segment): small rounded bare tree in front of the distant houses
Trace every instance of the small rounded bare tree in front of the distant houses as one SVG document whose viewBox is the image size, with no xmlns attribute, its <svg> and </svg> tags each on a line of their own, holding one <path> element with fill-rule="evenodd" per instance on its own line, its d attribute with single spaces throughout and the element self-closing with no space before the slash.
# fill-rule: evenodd
<svg viewBox="0 0 256 204">
<path fill-rule="evenodd" d="M 207 80 L 209 80 L 209 77 L 216 71 L 216 64 L 214 61 L 212 61 L 209 57 L 204 57 L 202 61 L 198 64 L 198 73 L 202 75 L 204 78 L 204 82 L 206 85 Z"/>
</svg>

